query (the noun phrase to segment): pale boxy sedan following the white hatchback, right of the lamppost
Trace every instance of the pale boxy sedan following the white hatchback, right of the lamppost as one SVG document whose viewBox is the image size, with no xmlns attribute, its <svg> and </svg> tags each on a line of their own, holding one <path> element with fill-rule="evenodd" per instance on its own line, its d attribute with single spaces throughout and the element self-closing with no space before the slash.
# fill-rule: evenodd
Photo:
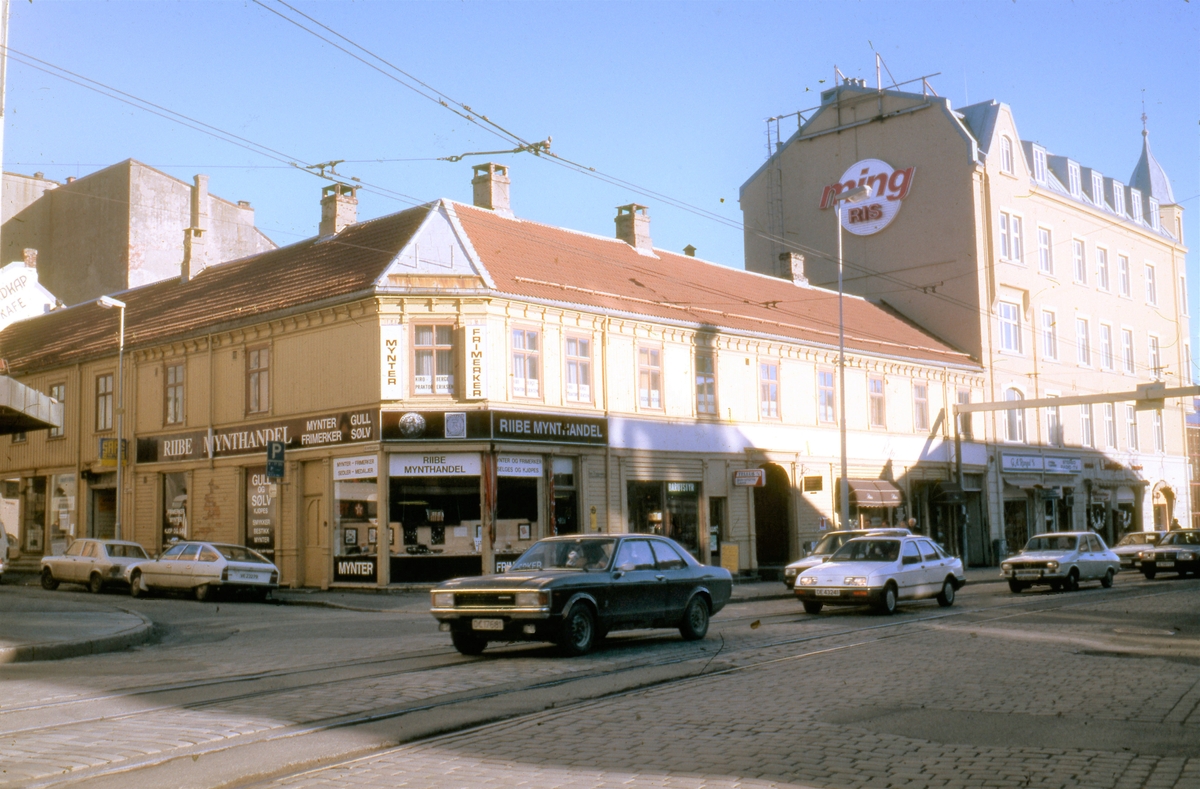
<svg viewBox="0 0 1200 789">
<path fill-rule="evenodd" d="M 1099 580 L 1108 589 L 1121 572 L 1121 559 L 1091 531 L 1056 531 L 1038 535 L 1015 556 L 1000 564 L 1008 589 L 1019 594 L 1030 586 L 1075 591 L 1082 580 Z"/>
</svg>

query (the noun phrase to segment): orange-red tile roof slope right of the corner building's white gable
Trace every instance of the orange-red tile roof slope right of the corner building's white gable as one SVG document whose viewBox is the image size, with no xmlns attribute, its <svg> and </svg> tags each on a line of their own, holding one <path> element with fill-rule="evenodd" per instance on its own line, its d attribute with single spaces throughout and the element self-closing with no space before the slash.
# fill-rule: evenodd
<svg viewBox="0 0 1200 789">
<path fill-rule="evenodd" d="M 838 345 L 836 293 L 662 249 L 654 251 L 655 259 L 616 239 L 452 205 L 503 293 Z M 966 354 L 862 299 L 846 297 L 845 325 L 848 349 L 977 367 Z"/>
</svg>

